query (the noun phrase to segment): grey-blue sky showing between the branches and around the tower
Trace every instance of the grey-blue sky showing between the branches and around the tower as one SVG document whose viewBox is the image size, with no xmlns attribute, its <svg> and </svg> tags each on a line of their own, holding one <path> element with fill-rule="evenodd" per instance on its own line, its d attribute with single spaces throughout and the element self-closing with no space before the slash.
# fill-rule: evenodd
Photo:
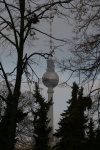
<svg viewBox="0 0 100 150">
<path fill-rule="evenodd" d="M 50 33 L 49 22 L 41 20 L 38 23 L 38 29 L 40 29 L 42 32 L 49 34 Z M 53 34 L 53 37 L 57 39 L 63 39 L 63 38 L 70 39 L 73 35 L 72 27 L 68 22 L 64 21 L 63 19 L 54 17 L 53 22 L 52 22 L 52 34 Z M 28 52 L 28 54 L 32 52 L 49 52 L 50 38 L 47 37 L 46 35 L 42 35 L 41 33 L 36 33 L 36 37 L 38 39 L 33 41 L 32 43 L 33 47 L 29 49 L 29 47 L 27 48 L 26 46 L 25 51 Z M 59 46 L 59 45 L 63 45 L 63 42 L 60 42 L 58 40 L 53 40 L 53 46 Z M 68 51 L 69 48 L 70 48 L 70 45 L 68 42 L 66 42 L 66 44 L 64 44 L 63 46 L 56 48 L 54 59 L 57 59 L 58 61 L 60 61 L 63 58 L 69 58 L 71 56 L 70 52 Z M 11 52 L 11 53 L 12 54 L 10 54 L 10 51 L 7 52 L 5 50 L 0 54 L 0 60 L 2 61 L 6 72 L 11 71 L 12 67 L 16 65 L 16 61 L 15 61 L 16 52 Z M 33 68 L 36 74 L 38 75 L 38 77 L 41 79 L 43 74 L 46 72 L 46 67 L 47 67 L 46 60 L 43 58 L 37 59 L 37 57 L 34 58 L 34 61 L 36 60 L 37 60 L 38 65 L 33 66 Z M 67 71 L 65 73 L 60 72 L 59 68 L 57 68 L 56 65 L 55 65 L 55 71 L 59 75 L 60 83 L 68 79 L 69 74 Z M 75 80 L 76 79 L 72 78 L 69 81 L 69 85 L 71 86 L 73 81 Z M 66 86 L 66 87 L 57 86 L 54 88 L 53 107 L 54 107 L 54 128 L 55 129 L 58 128 L 57 123 L 59 122 L 60 114 L 63 112 L 63 110 L 67 108 L 66 101 L 68 101 L 68 99 L 71 98 L 70 86 Z M 42 83 L 40 84 L 40 87 L 42 88 L 43 96 L 47 99 L 48 97 L 47 88 Z M 24 85 L 22 88 L 24 88 L 24 90 L 28 89 L 26 85 Z"/>
</svg>

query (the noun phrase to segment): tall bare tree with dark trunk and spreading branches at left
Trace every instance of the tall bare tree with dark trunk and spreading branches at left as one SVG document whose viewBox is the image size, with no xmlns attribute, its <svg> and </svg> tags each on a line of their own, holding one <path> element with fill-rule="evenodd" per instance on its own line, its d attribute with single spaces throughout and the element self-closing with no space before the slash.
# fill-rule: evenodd
<svg viewBox="0 0 100 150">
<path fill-rule="evenodd" d="M 36 1 L 36 0 L 1 0 L 0 1 L 0 47 L 6 50 L 16 52 L 16 66 L 10 72 L 6 73 L 2 62 L 0 62 L 1 77 L 5 80 L 8 96 L 0 95 L 2 100 L 8 105 L 10 120 L 7 133 L 7 150 L 14 149 L 14 137 L 16 130 L 16 115 L 18 101 L 20 97 L 21 81 L 23 74 L 29 81 L 28 67 L 32 70 L 29 60 L 34 55 L 40 55 L 47 58 L 46 53 L 34 52 L 30 55 L 25 53 L 25 45 L 35 39 L 35 32 L 48 34 L 37 29 L 36 24 L 41 19 L 47 19 L 47 11 L 53 8 L 57 15 L 66 17 L 62 10 L 67 9 L 67 5 L 72 0 L 63 1 Z M 65 5 L 66 4 L 66 5 Z M 53 37 L 52 37 L 53 38 Z M 56 39 L 56 38 L 54 38 Z M 58 39 L 56 39 L 58 40 Z M 34 72 L 34 70 L 32 70 Z M 14 89 L 11 90 L 8 78 L 14 73 Z"/>
</svg>

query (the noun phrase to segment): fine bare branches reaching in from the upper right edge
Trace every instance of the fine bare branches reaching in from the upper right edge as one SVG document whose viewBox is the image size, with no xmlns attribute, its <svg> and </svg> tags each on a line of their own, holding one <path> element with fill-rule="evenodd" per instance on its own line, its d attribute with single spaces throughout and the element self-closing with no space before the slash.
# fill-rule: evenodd
<svg viewBox="0 0 100 150">
<path fill-rule="evenodd" d="M 69 14 L 75 25 L 73 56 L 62 60 L 60 67 L 70 70 L 71 76 L 77 73 L 80 82 L 92 82 L 92 91 L 95 80 L 100 78 L 100 4 L 98 0 L 77 0 L 70 6 Z"/>
</svg>

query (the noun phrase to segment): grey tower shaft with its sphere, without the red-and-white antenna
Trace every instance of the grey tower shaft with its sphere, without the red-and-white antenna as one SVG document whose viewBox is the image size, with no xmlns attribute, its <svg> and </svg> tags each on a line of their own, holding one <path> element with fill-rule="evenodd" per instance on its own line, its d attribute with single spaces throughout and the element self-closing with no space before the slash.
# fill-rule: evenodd
<svg viewBox="0 0 100 150">
<path fill-rule="evenodd" d="M 54 61 L 51 58 L 47 60 L 47 72 L 44 73 L 42 81 L 43 84 L 48 88 L 48 101 L 50 101 L 51 99 L 53 101 L 53 88 L 57 86 L 59 82 L 59 77 L 55 72 Z M 53 105 L 50 107 L 50 110 L 48 112 L 48 118 L 50 119 L 49 126 L 52 127 L 51 134 L 53 134 Z"/>
</svg>

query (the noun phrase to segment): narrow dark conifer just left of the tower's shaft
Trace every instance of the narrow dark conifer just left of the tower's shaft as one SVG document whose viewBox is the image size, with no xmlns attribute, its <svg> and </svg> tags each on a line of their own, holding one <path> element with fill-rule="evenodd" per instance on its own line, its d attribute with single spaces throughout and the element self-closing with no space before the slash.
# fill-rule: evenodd
<svg viewBox="0 0 100 150">
<path fill-rule="evenodd" d="M 48 111 L 52 102 L 46 102 L 39 91 L 38 84 L 35 84 L 34 104 L 37 108 L 33 110 L 33 137 L 35 140 L 35 150 L 49 150 L 49 137 L 51 127 L 48 127 Z"/>
</svg>

